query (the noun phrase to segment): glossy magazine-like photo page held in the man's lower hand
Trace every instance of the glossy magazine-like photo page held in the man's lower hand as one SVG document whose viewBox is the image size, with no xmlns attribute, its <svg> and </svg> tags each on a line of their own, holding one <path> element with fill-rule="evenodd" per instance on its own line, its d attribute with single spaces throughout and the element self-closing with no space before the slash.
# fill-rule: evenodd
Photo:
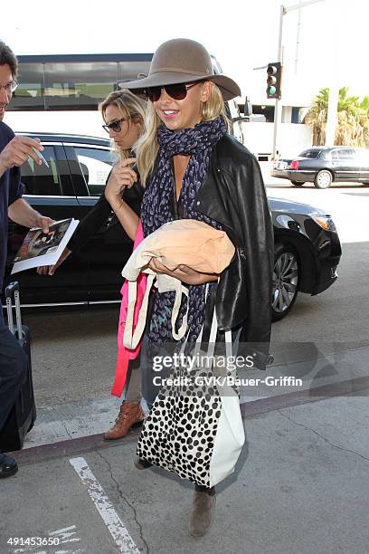
<svg viewBox="0 0 369 554">
<path fill-rule="evenodd" d="M 78 219 L 63 219 L 49 226 L 49 233 L 30 229 L 14 258 L 12 273 L 40 265 L 54 265 L 79 224 Z"/>
</svg>

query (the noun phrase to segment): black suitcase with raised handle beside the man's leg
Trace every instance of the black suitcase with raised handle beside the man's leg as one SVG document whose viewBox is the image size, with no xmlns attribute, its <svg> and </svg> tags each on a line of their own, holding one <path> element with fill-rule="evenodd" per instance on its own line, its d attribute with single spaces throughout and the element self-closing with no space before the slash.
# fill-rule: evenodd
<svg viewBox="0 0 369 554">
<path fill-rule="evenodd" d="M 12 307 L 13 293 L 16 321 L 15 328 Z M 0 432 L 0 452 L 13 452 L 23 447 L 25 435 L 33 428 L 36 419 L 36 405 L 33 396 L 30 330 L 25 325 L 22 325 L 18 282 L 11 282 L 5 288 L 5 298 L 9 329 L 19 340 L 28 358 L 28 371 L 25 382 L 19 391 L 19 395 L 14 402 L 14 406 L 5 422 L 5 426 Z"/>
</svg>

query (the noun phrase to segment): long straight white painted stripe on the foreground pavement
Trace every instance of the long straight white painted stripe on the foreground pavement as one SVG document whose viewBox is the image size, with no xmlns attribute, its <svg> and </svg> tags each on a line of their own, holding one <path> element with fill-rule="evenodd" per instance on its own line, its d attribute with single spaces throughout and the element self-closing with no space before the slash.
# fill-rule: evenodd
<svg viewBox="0 0 369 554">
<path fill-rule="evenodd" d="M 119 551 L 125 554 L 139 554 L 136 543 L 128 533 L 124 523 L 120 520 L 118 513 L 114 510 L 113 505 L 95 475 L 91 472 L 86 460 L 81 457 L 71 458 L 70 463 L 80 476 L 81 482 L 87 487 L 87 492 L 89 492 L 91 500 L 108 527 L 110 535 L 116 541 Z"/>
</svg>

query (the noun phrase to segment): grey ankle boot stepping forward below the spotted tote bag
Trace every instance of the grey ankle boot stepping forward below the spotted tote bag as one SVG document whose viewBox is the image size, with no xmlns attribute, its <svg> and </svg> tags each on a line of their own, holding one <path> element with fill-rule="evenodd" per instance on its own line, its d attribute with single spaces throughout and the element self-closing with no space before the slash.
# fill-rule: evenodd
<svg viewBox="0 0 369 554">
<path fill-rule="evenodd" d="M 215 511 L 215 487 L 208 489 L 201 485 L 194 487 L 193 509 L 190 513 L 189 533 L 192 537 L 203 537 L 212 527 Z"/>
</svg>

